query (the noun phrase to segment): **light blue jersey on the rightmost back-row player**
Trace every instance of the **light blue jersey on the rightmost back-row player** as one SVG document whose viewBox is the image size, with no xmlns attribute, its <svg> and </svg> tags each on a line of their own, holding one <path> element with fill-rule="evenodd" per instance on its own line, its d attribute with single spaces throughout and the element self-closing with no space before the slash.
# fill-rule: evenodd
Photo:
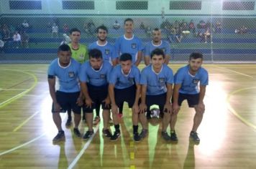
<svg viewBox="0 0 256 169">
<path fill-rule="evenodd" d="M 155 45 L 151 41 L 145 45 L 145 57 L 150 57 L 151 52 L 156 48 L 162 49 L 165 55 L 170 56 L 170 44 L 167 41 L 161 41 L 159 45 Z"/>
</svg>

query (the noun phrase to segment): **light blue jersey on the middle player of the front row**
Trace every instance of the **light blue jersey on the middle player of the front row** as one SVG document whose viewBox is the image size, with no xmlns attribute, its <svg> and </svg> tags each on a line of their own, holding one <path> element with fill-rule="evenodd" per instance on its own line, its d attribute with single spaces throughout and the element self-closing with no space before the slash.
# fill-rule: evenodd
<svg viewBox="0 0 256 169">
<path fill-rule="evenodd" d="M 114 84 L 116 89 L 125 89 L 140 83 L 140 69 L 132 65 L 129 74 L 124 74 L 121 65 L 112 69 L 109 84 Z"/>
</svg>

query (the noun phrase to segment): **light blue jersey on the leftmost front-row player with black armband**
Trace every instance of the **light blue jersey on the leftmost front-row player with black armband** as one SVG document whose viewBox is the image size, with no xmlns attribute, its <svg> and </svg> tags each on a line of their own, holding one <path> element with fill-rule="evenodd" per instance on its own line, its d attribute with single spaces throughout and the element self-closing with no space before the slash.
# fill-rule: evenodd
<svg viewBox="0 0 256 169">
<path fill-rule="evenodd" d="M 67 67 L 62 67 L 59 59 L 54 59 L 49 68 L 48 75 L 58 77 L 61 92 L 79 92 L 80 86 L 78 83 L 78 73 L 80 63 L 74 59 L 70 59 L 70 64 Z"/>
</svg>

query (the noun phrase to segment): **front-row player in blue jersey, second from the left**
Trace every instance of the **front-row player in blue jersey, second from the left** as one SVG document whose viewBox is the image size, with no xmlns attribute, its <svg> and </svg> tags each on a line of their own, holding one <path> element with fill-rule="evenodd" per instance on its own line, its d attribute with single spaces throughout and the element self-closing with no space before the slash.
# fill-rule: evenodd
<svg viewBox="0 0 256 169">
<path fill-rule="evenodd" d="M 104 127 L 103 133 L 106 137 L 111 137 L 109 132 L 110 100 L 108 95 L 108 80 L 111 72 L 111 64 L 104 61 L 99 49 L 91 49 L 89 61 L 81 66 L 79 74 L 81 80 L 81 90 L 86 97 L 86 105 L 83 112 L 86 113 L 88 131 L 83 139 L 88 139 L 93 135 L 93 109 L 96 105 L 101 105 L 103 109 Z"/>
</svg>

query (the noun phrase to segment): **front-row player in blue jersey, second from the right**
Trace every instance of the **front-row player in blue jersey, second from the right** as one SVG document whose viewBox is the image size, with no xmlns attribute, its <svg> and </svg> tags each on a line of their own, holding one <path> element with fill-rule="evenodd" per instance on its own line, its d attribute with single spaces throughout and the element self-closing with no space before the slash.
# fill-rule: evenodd
<svg viewBox="0 0 256 169">
<path fill-rule="evenodd" d="M 142 115 L 145 111 L 150 114 L 150 106 L 158 105 L 160 112 L 163 113 L 162 136 L 165 140 L 170 140 L 166 129 L 172 113 L 170 97 L 173 92 L 173 70 L 164 64 L 165 54 L 162 49 L 154 49 L 150 57 L 152 64 L 142 69 L 140 78 L 142 84 L 140 111 Z"/>
</svg>

